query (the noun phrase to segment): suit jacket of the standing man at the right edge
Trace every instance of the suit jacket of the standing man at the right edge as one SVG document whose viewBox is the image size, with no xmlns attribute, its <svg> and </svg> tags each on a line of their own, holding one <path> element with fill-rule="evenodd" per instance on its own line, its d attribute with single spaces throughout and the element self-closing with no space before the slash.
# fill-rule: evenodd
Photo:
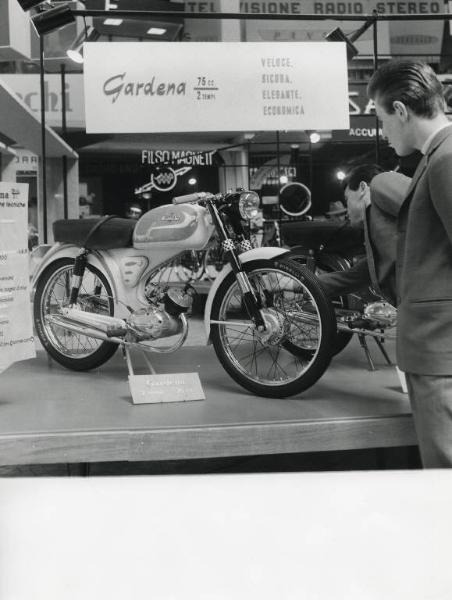
<svg viewBox="0 0 452 600">
<path fill-rule="evenodd" d="M 397 222 L 397 362 L 452 375 L 452 128 L 419 163 Z"/>
</svg>

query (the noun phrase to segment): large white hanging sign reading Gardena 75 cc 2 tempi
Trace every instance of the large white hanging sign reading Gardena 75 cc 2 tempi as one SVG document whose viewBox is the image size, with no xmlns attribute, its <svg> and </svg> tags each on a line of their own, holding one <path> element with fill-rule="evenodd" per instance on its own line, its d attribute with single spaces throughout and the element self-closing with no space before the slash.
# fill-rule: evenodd
<svg viewBox="0 0 452 600">
<path fill-rule="evenodd" d="M 155 42 L 144 52 L 113 42 L 84 53 L 87 133 L 349 127 L 342 43 Z"/>
</svg>

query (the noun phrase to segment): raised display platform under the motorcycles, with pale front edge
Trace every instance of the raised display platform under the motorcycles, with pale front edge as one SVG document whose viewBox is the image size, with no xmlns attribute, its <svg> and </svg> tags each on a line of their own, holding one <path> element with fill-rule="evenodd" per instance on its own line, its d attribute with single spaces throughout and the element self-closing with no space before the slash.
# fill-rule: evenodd
<svg viewBox="0 0 452 600">
<path fill-rule="evenodd" d="M 155 355 L 158 373 L 199 371 L 206 400 L 143 405 L 132 403 L 120 352 L 96 371 L 76 373 L 39 351 L 36 359 L 0 375 L 0 464 L 414 445 L 408 397 L 395 368 L 384 364 L 372 340 L 369 344 L 377 371 L 367 369 L 364 353 L 352 340 L 315 386 L 285 400 L 247 394 L 223 370 L 211 346 Z M 393 357 L 391 345 L 388 350 Z"/>
</svg>

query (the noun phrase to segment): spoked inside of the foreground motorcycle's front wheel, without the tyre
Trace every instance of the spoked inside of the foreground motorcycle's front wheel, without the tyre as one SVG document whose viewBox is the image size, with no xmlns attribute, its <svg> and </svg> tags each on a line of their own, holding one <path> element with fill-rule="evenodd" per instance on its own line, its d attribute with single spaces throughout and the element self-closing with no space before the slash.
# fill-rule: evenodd
<svg viewBox="0 0 452 600">
<path fill-rule="evenodd" d="M 290 383 L 309 368 L 318 351 L 317 305 L 302 280 L 276 267 L 255 270 L 249 279 L 262 304 L 266 331 L 259 334 L 254 328 L 238 326 L 236 315 L 243 313 L 244 307 L 234 282 L 216 321 L 222 344 L 234 369 L 246 378 L 266 385 Z M 310 310 L 303 318 L 306 307 Z M 305 355 L 300 356 L 301 352 Z"/>
</svg>

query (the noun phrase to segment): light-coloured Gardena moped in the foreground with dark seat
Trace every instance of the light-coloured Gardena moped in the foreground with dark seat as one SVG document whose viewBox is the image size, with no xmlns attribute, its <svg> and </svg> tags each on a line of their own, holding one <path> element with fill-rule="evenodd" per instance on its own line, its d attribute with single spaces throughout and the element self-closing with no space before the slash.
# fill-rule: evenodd
<svg viewBox="0 0 452 600">
<path fill-rule="evenodd" d="M 83 371 L 108 361 L 118 346 L 126 358 L 134 348 L 145 356 L 180 348 L 193 288 L 168 273 L 175 259 L 203 249 L 216 231 L 227 263 L 211 284 L 204 323 L 218 359 L 255 394 L 282 398 L 306 390 L 330 362 L 334 312 L 313 274 L 287 250 L 251 248 L 246 220 L 258 206 L 255 192 L 201 192 L 176 197 L 138 221 L 55 222 L 56 243 L 32 280 L 44 349 Z"/>
</svg>

